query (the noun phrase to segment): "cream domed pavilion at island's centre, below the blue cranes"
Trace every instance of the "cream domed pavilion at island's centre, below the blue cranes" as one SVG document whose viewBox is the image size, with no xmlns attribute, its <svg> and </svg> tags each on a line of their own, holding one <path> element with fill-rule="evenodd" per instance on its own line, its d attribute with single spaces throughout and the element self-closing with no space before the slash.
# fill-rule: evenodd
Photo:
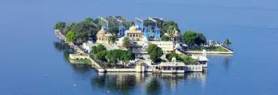
<svg viewBox="0 0 278 95">
<path fill-rule="evenodd" d="M 138 30 L 137 27 L 132 25 L 131 27 L 129 27 L 129 30 L 125 31 L 125 36 L 129 36 L 129 38 L 132 38 L 133 40 L 141 39 L 142 31 Z"/>
</svg>

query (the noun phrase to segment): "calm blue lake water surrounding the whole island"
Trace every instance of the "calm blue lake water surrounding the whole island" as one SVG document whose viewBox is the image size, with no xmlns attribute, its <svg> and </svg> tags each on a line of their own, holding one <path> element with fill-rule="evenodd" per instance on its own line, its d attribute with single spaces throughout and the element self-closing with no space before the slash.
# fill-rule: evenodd
<svg viewBox="0 0 278 95">
<path fill-rule="evenodd" d="M 208 40 L 229 38 L 234 54 L 210 55 L 207 73 L 177 75 L 99 74 L 69 64 L 53 45 L 54 24 L 99 15 L 160 16 Z M 278 93 L 277 0 L 1 0 L 0 31 L 1 95 Z"/>
</svg>

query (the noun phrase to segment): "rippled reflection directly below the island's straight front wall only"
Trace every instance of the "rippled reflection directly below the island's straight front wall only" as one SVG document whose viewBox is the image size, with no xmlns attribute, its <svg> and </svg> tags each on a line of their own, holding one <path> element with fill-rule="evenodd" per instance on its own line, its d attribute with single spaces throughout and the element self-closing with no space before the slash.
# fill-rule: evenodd
<svg viewBox="0 0 278 95">
<path fill-rule="evenodd" d="M 199 80 L 205 85 L 206 73 L 191 72 L 185 74 L 153 74 L 140 72 L 107 72 L 100 73 L 91 79 L 91 85 L 117 92 L 118 94 L 131 94 L 136 86 L 144 88 L 145 94 L 162 94 L 162 88 L 169 88 L 172 92 L 179 83 L 186 80 Z M 165 85 L 162 85 L 165 83 Z"/>
</svg>

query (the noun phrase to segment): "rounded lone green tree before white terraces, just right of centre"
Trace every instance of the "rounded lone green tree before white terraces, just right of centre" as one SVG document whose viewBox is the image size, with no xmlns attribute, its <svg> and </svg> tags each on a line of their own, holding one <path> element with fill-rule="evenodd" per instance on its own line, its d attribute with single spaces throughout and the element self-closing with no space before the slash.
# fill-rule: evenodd
<svg viewBox="0 0 278 95">
<path fill-rule="evenodd" d="M 147 53 L 150 55 L 153 62 L 159 62 L 160 57 L 163 55 L 163 51 L 155 44 L 150 44 L 147 48 Z"/>
</svg>

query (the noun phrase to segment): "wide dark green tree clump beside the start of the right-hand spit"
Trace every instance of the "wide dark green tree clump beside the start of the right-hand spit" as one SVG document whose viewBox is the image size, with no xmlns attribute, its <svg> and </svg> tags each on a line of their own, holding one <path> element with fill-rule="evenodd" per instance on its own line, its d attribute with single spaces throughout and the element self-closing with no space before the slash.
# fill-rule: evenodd
<svg viewBox="0 0 278 95">
<path fill-rule="evenodd" d="M 195 31 L 186 31 L 181 37 L 182 41 L 189 45 L 201 45 L 207 42 L 203 33 L 196 33 Z"/>
</svg>

